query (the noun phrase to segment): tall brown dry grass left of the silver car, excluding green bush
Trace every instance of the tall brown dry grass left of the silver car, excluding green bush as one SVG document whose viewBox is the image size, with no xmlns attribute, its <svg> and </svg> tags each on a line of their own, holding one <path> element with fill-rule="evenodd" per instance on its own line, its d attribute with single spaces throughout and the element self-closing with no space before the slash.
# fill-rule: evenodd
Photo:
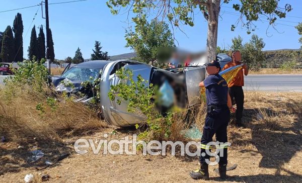
<svg viewBox="0 0 302 183">
<path fill-rule="evenodd" d="M 8 141 L 0 144 L 0 175 L 43 167 L 45 160 L 55 162 L 60 155 L 72 152 L 66 138 L 102 131 L 106 126 L 83 104 L 62 100 L 55 108 L 47 105 L 47 97 L 53 95 L 48 88 L 39 93 L 27 86 L 9 84 L 0 90 L 0 137 Z M 43 110 L 37 110 L 37 106 Z M 29 151 L 36 149 L 48 157 L 30 161 Z"/>
</svg>

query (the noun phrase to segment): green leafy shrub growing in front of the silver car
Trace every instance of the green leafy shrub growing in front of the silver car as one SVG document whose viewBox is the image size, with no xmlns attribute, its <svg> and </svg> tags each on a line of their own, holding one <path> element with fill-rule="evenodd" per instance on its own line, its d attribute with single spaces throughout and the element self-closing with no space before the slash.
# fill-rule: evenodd
<svg viewBox="0 0 302 183">
<path fill-rule="evenodd" d="M 117 85 L 111 85 L 108 97 L 110 100 L 116 100 L 118 105 L 121 100 L 127 101 L 127 111 L 135 113 L 138 110 L 146 116 L 148 129 L 139 134 L 140 139 L 164 139 L 171 134 L 172 112 L 168 112 L 164 117 L 155 108 L 157 88 L 153 84 L 148 85 L 148 81 L 138 75 L 136 81 L 133 79 L 133 72 L 130 69 L 121 68 L 116 72 L 120 82 Z M 137 125 L 136 125 L 136 128 Z"/>
</svg>

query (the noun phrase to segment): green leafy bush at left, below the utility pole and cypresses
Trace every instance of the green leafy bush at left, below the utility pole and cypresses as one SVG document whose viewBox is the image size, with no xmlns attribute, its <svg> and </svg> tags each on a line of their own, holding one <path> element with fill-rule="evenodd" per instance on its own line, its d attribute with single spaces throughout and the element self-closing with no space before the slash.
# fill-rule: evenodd
<svg viewBox="0 0 302 183">
<path fill-rule="evenodd" d="M 48 82 L 48 70 L 43 65 L 44 59 L 40 62 L 33 58 L 33 61 L 18 62 L 19 68 L 14 70 L 14 77 L 5 80 L 5 82 L 12 82 L 18 85 L 28 85 L 32 89 L 41 92 L 42 88 L 47 85 Z"/>
</svg>

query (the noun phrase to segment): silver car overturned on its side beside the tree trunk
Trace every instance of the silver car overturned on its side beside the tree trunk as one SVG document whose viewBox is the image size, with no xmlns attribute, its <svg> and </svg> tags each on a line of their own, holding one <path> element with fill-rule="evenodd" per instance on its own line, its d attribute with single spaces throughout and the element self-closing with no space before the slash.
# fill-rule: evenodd
<svg viewBox="0 0 302 183">
<path fill-rule="evenodd" d="M 131 126 L 145 121 L 145 116 L 127 112 L 127 101 L 119 99 L 121 104 L 117 104 L 118 98 L 111 101 L 108 92 L 111 85 L 116 85 L 120 79 L 116 71 L 125 68 L 133 71 L 133 80 L 141 75 L 148 84 L 161 86 L 165 81 L 173 81 L 172 88 L 176 96 L 176 103 L 191 107 L 199 103 L 200 90 L 198 83 L 205 78 L 205 66 L 190 66 L 175 69 L 159 69 L 152 65 L 140 63 L 133 60 L 117 60 L 108 63 L 101 75 L 100 103 L 103 115 L 109 124 L 115 126 Z"/>
</svg>

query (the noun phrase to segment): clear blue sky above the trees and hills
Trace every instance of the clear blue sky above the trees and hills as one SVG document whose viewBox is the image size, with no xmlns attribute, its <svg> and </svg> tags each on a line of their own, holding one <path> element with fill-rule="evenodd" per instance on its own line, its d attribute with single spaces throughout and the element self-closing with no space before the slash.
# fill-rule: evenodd
<svg viewBox="0 0 302 183">
<path fill-rule="evenodd" d="M 67 1 L 71 0 L 49 0 L 49 3 Z M 241 29 L 240 26 L 235 32 L 231 31 L 231 25 L 237 21 L 239 16 L 231 15 L 228 12 L 236 13 L 235 10 L 229 8 L 232 7 L 232 3 L 236 1 L 237 0 L 233 0 L 230 4 L 223 4 L 223 7 L 221 7 L 220 14 L 222 18 L 219 18 L 218 24 L 218 46 L 220 47 L 223 47 L 223 45 L 228 47 L 228 45 L 231 45 L 232 38 L 238 35 L 241 35 L 244 41 L 248 41 L 251 37 L 251 35 L 247 35 L 246 30 Z M 39 3 L 40 1 L 38 0 L 1 0 L 0 12 L 33 6 Z M 127 14 L 113 16 L 105 3 L 105 0 L 88 0 L 84 2 L 49 5 L 49 25 L 52 30 L 55 57 L 57 59 L 64 59 L 67 56 L 73 57 L 78 47 L 80 47 L 85 59 L 90 58 L 95 40 L 101 42 L 103 51 L 108 51 L 109 55 L 132 52 L 130 48 L 125 48 L 126 41 L 124 35 L 125 28 L 128 26 L 128 24 L 125 23 Z M 300 47 L 297 30 L 291 26 L 297 25 L 295 22 L 302 22 L 302 18 L 296 18 L 302 17 L 302 1 L 281 0 L 281 5 L 286 3 L 292 5 L 293 10 L 287 14 L 292 17 L 281 19 L 282 21 L 289 22 L 278 21 L 280 24 L 276 28 L 279 33 L 273 28 L 269 28 L 268 32 L 270 37 L 268 37 L 266 34 L 268 23 L 260 21 L 256 23 L 258 29 L 254 33 L 264 39 L 266 44 L 264 50 L 283 48 L 297 49 Z M 37 16 L 31 25 L 37 10 Z M 13 25 L 15 15 L 18 12 L 22 14 L 23 19 L 24 57 L 27 58 L 27 48 L 29 46 L 32 26 L 34 24 L 36 27 L 41 24 L 45 26 L 45 19 L 41 18 L 41 7 L 0 13 L 0 31 L 3 32 L 8 25 Z M 29 27 L 30 25 L 31 27 Z M 205 48 L 207 23 L 201 13 L 195 15 L 194 27 L 182 26 L 182 29 L 186 32 L 187 36 L 180 31 L 175 32 L 176 39 L 181 48 L 190 51 L 199 51 Z M 26 35 L 27 31 L 28 34 Z"/>
</svg>

